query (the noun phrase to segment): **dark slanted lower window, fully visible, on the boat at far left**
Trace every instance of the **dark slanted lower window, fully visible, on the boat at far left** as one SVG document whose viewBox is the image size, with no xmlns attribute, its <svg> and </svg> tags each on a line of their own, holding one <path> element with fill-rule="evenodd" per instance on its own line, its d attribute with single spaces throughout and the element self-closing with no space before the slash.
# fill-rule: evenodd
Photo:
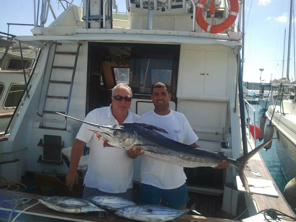
<svg viewBox="0 0 296 222">
<path fill-rule="evenodd" d="M 19 103 L 20 97 L 23 95 L 25 84 L 11 84 L 4 101 L 4 109 L 14 109 Z"/>
</svg>

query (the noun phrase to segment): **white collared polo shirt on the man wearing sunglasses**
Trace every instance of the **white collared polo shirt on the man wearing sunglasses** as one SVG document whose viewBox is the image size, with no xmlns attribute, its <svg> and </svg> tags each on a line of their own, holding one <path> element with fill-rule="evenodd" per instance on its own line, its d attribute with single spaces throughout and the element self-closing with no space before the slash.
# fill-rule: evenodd
<svg viewBox="0 0 296 222">
<path fill-rule="evenodd" d="M 111 104 L 112 105 L 112 104 Z M 94 109 L 85 121 L 96 124 L 118 125 L 109 107 Z M 125 122 L 137 122 L 139 115 L 128 111 Z M 97 188 L 108 193 L 123 193 L 133 187 L 133 160 L 126 150 L 116 147 L 103 147 L 103 140 L 90 130 L 96 127 L 83 123 L 76 139 L 90 143 L 88 169 L 84 177 L 86 187 Z"/>
</svg>

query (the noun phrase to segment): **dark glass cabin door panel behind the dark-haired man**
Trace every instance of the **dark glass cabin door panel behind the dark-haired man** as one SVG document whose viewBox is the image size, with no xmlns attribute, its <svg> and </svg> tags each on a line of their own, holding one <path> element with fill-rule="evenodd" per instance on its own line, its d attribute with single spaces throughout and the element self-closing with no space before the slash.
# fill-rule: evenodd
<svg viewBox="0 0 296 222">
<path fill-rule="evenodd" d="M 130 86 L 135 98 L 147 98 L 151 86 L 164 82 L 172 93 L 171 100 L 176 99 L 176 85 L 179 61 L 179 45 L 154 46 L 155 48 L 135 49 L 132 52 Z"/>
</svg>

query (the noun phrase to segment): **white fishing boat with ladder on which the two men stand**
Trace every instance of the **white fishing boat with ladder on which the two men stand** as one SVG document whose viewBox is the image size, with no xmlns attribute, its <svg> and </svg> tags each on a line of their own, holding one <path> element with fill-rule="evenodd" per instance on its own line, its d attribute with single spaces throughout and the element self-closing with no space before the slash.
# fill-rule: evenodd
<svg viewBox="0 0 296 222">
<path fill-rule="evenodd" d="M 47 4 L 48 1 L 43 2 Z M 44 190 L 55 186 L 54 176 L 50 175 L 47 181 L 40 173 L 51 168 L 55 169 L 51 172 L 59 176 L 67 174 L 69 160 L 66 156 L 70 156 L 70 147 L 81 125 L 56 115 L 55 111 L 84 119 L 92 109 L 110 105 L 111 89 L 118 82 L 130 85 L 133 90 L 130 110 L 139 115 L 154 109 L 150 99 L 151 85 L 157 81 L 167 83 L 172 93 L 170 109 L 187 117 L 199 136 L 197 144 L 205 149 L 224 152 L 236 159 L 256 146 L 256 141 L 246 132 L 239 58 L 243 35 L 237 29 L 240 24 L 232 26 L 235 15 L 241 16 L 238 1 L 212 1 L 218 9 L 211 17 L 207 16 L 211 1 L 199 0 L 198 4 L 192 0 L 149 1 L 148 5 L 147 1 L 127 0 L 128 19 L 123 14 L 113 23 L 110 7 L 114 2 L 105 0 L 102 6 L 101 1 L 85 0 L 84 10 L 70 4 L 49 27 L 43 27 L 48 7 L 42 6 L 40 27 L 35 22 L 31 29 L 34 35 L 16 37 L 42 48 L 42 52 L 28 82 L 29 94 L 23 94 L 15 112 L 17 115 L 10 123 L 7 131 L 10 135 L 0 142 L 0 154 L 5 160 L 2 167 L 10 167 L 9 173 L 4 175 L 8 171 L 2 171 L 1 176 L 8 181 L 37 172 L 39 179 L 42 176 L 37 186 L 44 185 L 44 189 L 39 189 L 40 194 L 44 195 Z M 229 2 L 231 7 L 225 5 Z M 228 15 L 231 23 L 226 20 Z M 208 27 L 204 18 L 216 25 Z M 230 28 L 225 30 L 225 25 Z M 85 167 L 85 160 L 87 157 L 80 161 L 80 167 Z M 139 182 L 140 163 L 140 157 L 134 160 L 135 183 Z M 248 165 L 251 170 L 245 172 L 249 178 L 256 181 L 261 172 L 262 179 L 274 183 L 259 153 Z M 185 168 L 184 171 L 189 191 L 203 193 L 206 201 L 211 196 L 218 196 L 218 204 L 213 201 L 205 207 L 208 210 L 215 205 L 211 216 L 224 217 L 224 214 L 216 214 L 222 207 L 229 213 L 228 219 L 234 218 L 239 193 L 232 189 L 236 185 L 239 187 L 239 181 L 233 184 L 234 169 L 206 167 Z M 14 179 L 13 175 L 19 177 Z M 241 196 L 245 198 L 241 201 L 241 209 L 245 209 L 246 202 L 248 216 L 275 206 L 281 212 L 294 215 L 275 187 L 272 196 L 260 191 L 254 194 L 254 200 L 245 193 Z M 41 210 L 40 207 L 40 216 L 55 216 Z M 68 217 L 65 214 L 58 216 L 55 218 Z M 196 220 L 187 215 L 188 218 Z M 83 219 L 88 220 L 88 217 Z"/>
</svg>

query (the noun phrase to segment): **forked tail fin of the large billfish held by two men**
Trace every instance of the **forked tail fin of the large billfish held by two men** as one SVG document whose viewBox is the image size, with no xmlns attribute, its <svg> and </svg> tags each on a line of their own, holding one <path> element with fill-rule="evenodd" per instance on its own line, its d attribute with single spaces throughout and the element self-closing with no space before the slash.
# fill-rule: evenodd
<svg viewBox="0 0 296 222">
<path fill-rule="evenodd" d="M 241 179 L 241 182 L 242 182 L 242 184 L 243 184 L 243 186 L 244 186 L 247 194 L 253 200 L 254 200 L 254 197 L 253 197 L 253 194 L 250 192 L 250 189 L 249 189 L 249 184 L 248 184 L 248 181 L 247 181 L 247 175 L 245 173 L 245 167 L 247 165 L 248 160 L 251 157 L 253 157 L 264 146 L 266 146 L 267 144 L 269 144 L 273 139 L 276 139 L 276 138 L 271 138 L 271 139 L 267 140 L 265 143 L 262 143 L 260 146 L 257 146 L 254 150 L 251 150 L 246 155 L 244 155 L 244 156 L 242 156 L 240 158 L 237 158 L 236 161 L 239 162 L 240 164 L 239 165 L 236 165 L 236 166 L 233 166 L 236 169 L 236 172 L 238 173 L 238 175 L 239 175 L 239 177 Z"/>
</svg>

